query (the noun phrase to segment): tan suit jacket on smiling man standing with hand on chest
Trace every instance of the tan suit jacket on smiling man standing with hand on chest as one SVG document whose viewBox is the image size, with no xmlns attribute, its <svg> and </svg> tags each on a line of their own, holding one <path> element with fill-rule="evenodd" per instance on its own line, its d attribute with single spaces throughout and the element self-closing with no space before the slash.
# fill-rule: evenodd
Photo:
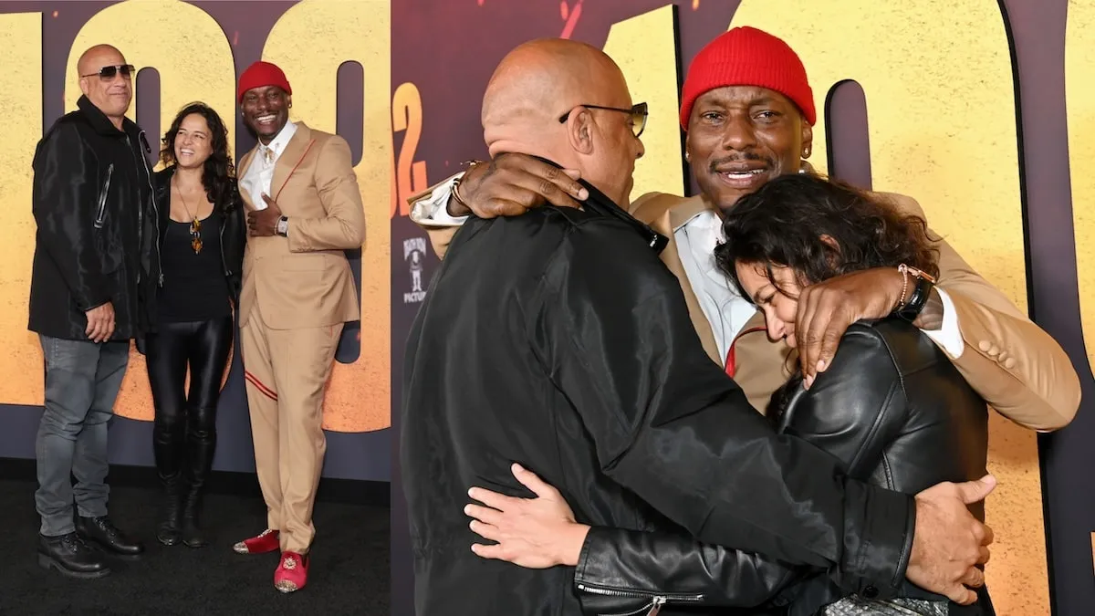
<svg viewBox="0 0 1095 616">
<path fill-rule="evenodd" d="M 239 178 L 257 146 L 240 160 Z M 240 191 L 247 212 L 255 209 Z M 365 209 L 349 145 L 337 135 L 297 123 L 274 167 L 270 197 L 289 218 L 288 237 L 247 238 L 240 324 L 257 303 L 270 329 L 333 326 L 361 318 L 344 250 L 365 241 Z"/>
</svg>

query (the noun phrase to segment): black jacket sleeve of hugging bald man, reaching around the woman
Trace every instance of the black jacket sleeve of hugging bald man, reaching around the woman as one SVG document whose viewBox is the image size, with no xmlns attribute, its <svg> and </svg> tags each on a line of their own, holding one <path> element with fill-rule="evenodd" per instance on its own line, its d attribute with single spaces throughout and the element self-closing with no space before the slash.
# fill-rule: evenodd
<svg viewBox="0 0 1095 616">
<path fill-rule="evenodd" d="M 848 593 L 894 596 L 912 498 L 776 435 L 704 353 L 672 274 L 620 228 L 592 219 L 570 233 L 523 308 L 601 470 L 701 541 L 828 570 Z"/>
</svg>

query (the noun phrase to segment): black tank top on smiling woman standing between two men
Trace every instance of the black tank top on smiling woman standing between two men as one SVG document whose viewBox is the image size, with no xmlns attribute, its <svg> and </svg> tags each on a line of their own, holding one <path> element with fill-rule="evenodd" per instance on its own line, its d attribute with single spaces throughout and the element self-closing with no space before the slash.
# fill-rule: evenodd
<svg viewBox="0 0 1095 616">
<path fill-rule="evenodd" d="M 168 220 L 160 253 L 163 272 L 163 287 L 157 299 L 160 322 L 206 321 L 232 311 L 220 255 L 223 216 L 214 212 L 200 223 L 201 250 L 195 253 L 191 224 Z"/>
</svg>

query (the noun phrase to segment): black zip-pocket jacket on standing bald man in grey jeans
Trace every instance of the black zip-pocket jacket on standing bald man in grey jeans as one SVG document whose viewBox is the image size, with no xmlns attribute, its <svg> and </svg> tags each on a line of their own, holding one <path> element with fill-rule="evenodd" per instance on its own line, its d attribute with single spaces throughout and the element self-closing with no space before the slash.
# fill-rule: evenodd
<svg viewBox="0 0 1095 616">
<path fill-rule="evenodd" d="M 128 118 L 119 130 L 87 96 L 46 133 L 34 153 L 31 331 L 87 340 L 84 312 L 114 306 L 112 340 L 146 329 L 140 281 L 159 269 L 149 250 L 151 152 Z"/>
</svg>

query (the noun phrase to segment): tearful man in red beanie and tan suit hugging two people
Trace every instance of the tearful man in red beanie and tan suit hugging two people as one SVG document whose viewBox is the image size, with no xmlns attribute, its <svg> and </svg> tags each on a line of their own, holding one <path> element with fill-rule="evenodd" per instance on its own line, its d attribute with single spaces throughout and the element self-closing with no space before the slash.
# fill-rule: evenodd
<svg viewBox="0 0 1095 616">
<path fill-rule="evenodd" d="M 661 259 L 678 277 L 692 322 L 712 361 L 727 369 L 750 402 L 764 410 L 797 362 L 807 383 L 835 352 L 851 323 L 903 308 L 918 280 L 891 269 L 868 270 L 814 285 L 798 304 L 798 352 L 765 335 L 764 317 L 738 297 L 714 266 L 721 209 L 733 207 L 782 173 L 809 172 L 812 92 L 786 43 L 737 27 L 693 60 L 682 92 L 685 158 L 702 193 L 691 198 L 646 194 L 630 206 L 670 238 Z M 438 255 L 462 217 L 519 215 L 544 202 L 577 204 L 584 189 L 566 173 L 522 155 L 475 164 L 412 199 Z M 883 194 L 923 216 L 910 197 Z M 1059 344 L 940 241 L 940 280 L 913 323 L 931 336 L 988 402 L 1038 431 L 1067 425 L 1080 404 L 1080 380 Z"/>
</svg>

